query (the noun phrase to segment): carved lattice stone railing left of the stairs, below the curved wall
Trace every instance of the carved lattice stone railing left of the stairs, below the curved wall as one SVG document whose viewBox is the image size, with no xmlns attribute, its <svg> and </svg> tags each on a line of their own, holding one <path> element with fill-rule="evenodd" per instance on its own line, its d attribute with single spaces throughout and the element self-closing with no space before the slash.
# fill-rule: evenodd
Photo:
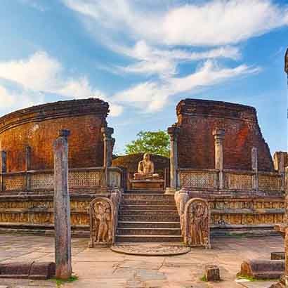
<svg viewBox="0 0 288 288">
<path fill-rule="evenodd" d="M 20 171 L 1 174 L 1 191 L 52 191 L 54 189 L 53 169 L 38 171 Z M 72 168 L 69 169 L 69 187 L 93 189 L 103 187 L 103 167 Z M 122 187 L 122 170 L 118 167 L 109 167 L 108 186 Z"/>
</svg>

